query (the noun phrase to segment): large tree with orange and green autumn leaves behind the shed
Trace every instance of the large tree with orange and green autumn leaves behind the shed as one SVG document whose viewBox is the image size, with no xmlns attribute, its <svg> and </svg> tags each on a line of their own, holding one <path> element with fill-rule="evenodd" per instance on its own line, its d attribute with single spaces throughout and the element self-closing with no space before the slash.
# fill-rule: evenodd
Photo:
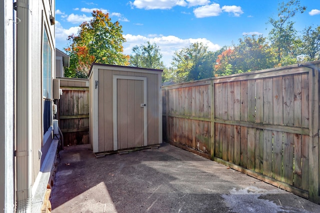
<svg viewBox="0 0 320 213">
<path fill-rule="evenodd" d="M 124 55 L 122 26 L 112 22 L 108 13 L 100 10 L 92 12 L 89 22 L 80 24 L 77 35 L 68 36 L 69 47 L 65 51 L 70 56 L 70 66 L 66 77 L 87 77 L 91 63 L 127 65 L 129 56 Z"/>
</svg>

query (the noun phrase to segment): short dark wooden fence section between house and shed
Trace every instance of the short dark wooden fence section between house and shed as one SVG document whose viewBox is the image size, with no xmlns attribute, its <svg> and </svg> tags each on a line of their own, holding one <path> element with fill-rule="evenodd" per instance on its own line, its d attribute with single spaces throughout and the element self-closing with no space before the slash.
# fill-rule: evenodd
<svg viewBox="0 0 320 213">
<path fill-rule="evenodd" d="M 89 81 L 59 78 L 58 123 L 64 146 L 89 144 Z"/>
</svg>

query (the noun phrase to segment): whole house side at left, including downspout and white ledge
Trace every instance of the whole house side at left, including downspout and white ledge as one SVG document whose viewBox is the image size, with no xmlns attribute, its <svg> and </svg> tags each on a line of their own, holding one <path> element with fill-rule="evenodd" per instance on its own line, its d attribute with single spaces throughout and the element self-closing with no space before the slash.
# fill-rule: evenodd
<svg viewBox="0 0 320 213">
<path fill-rule="evenodd" d="M 0 210 L 4 212 L 40 212 L 52 174 L 57 140 L 52 140 L 51 108 L 50 127 L 43 134 L 42 70 L 46 29 L 51 82 L 54 5 L 54 0 L 0 2 Z M 52 89 L 48 93 L 51 104 Z"/>
</svg>

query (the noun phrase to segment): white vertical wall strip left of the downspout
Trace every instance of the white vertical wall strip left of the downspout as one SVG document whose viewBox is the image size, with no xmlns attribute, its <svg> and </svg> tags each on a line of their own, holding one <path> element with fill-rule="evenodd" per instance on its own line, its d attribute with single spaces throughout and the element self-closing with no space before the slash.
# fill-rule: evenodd
<svg viewBox="0 0 320 213">
<path fill-rule="evenodd" d="M 13 5 L 0 1 L 0 211 L 14 210 Z M 9 22 L 8 22 L 9 20 Z"/>
</svg>

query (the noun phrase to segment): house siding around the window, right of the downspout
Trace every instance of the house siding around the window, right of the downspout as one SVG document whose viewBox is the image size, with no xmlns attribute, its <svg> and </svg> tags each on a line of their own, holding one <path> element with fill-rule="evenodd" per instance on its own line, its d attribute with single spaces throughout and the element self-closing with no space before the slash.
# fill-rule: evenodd
<svg viewBox="0 0 320 213">
<path fill-rule="evenodd" d="M 54 1 L 51 0 L 32 0 L 30 1 L 30 6 L 32 10 L 31 15 L 31 26 L 32 26 L 32 38 L 31 38 L 31 48 L 32 48 L 32 182 L 34 183 L 45 155 L 50 147 L 52 141 L 52 135 L 46 134 L 43 136 L 42 131 L 42 40 L 43 40 L 43 30 L 46 29 L 49 44 L 51 47 L 51 61 L 52 61 L 52 78 L 54 78 L 54 61 L 55 61 L 55 38 L 54 38 L 54 25 L 50 24 L 49 15 L 54 16 Z M 36 32 L 36 33 L 33 33 Z M 52 92 L 52 91 L 51 91 Z M 50 129 L 51 130 L 51 129 Z M 39 158 L 38 151 L 41 151 L 42 156 Z"/>
</svg>

